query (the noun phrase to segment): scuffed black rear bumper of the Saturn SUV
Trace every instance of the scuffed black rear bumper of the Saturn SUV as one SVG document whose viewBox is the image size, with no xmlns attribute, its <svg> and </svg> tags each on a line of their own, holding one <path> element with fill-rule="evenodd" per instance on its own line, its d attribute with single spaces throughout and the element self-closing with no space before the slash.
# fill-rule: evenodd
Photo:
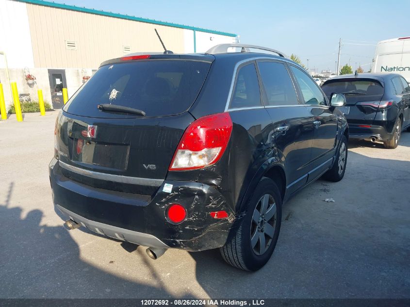
<svg viewBox="0 0 410 307">
<path fill-rule="evenodd" d="M 57 160 L 49 165 L 53 202 L 57 209 L 90 230 L 139 245 L 200 251 L 223 246 L 234 225 L 234 211 L 215 188 L 191 181 L 165 180 L 151 197 L 94 188 L 65 177 Z M 172 184 L 171 193 L 163 192 Z M 185 207 L 180 224 L 166 219 L 172 203 Z M 210 212 L 225 210 L 226 219 Z"/>
</svg>

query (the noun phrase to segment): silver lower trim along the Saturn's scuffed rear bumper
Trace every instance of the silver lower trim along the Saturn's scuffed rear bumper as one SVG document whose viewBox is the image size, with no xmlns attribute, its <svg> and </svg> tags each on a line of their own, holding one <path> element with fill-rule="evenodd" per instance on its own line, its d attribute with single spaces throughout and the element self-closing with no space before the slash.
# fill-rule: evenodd
<svg viewBox="0 0 410 307">
<path fill-rule="evenodd" d="M 157 237 L 150 235 L 148 233 L 133 231 L 129 229 L 124 229 L 116 226 L 111 226 L 103 223 L 99 223 L 96 221 L 91 221 L 82 217 L 70 210 L 67 210 L 60 205 L 55 205 L 58 210 L 63 212 L 64 214 L 68 215 L 70 219 L 73 221 L 81 224 L 88 229 L 97 232 L 99 234 L 117 239 L 122 241 L 127 241 L 131 243 L 135 243 L 138 245 L 148 246 L 148 247 L 157 247 L 157 248 L 169 248 L 164 242 L 162 242 Z"/>
</svg>

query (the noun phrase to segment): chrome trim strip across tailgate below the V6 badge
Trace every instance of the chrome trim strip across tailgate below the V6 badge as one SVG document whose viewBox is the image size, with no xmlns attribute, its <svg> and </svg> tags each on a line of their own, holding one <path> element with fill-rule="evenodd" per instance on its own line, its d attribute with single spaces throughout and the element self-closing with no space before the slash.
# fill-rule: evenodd
<svg viewBox="0 0 410 307">
<path fill-rule="evenodd" d="M 113 174 L 105 174 L 99 172 L 89 171 L 77 166 L 69 165 L 65 162 L 58 162 L 59 165 L 73 173 L 77 173 L 86 177 L 96 178 L 101 180 L 107 181 L 114 181 L 114 182 L 121 182 L 121 183 L 129 183 L 129 184 L 140 184 L 140 185 L 148 185 L 151 187 L 159 187 L 164 182 L 163 179 L 151 179 L 151 178 L 138 178 L 138 177 L 128 177 L 128 176 L 121 176 L 121 175 L 113 175 Z"/>
</svg>

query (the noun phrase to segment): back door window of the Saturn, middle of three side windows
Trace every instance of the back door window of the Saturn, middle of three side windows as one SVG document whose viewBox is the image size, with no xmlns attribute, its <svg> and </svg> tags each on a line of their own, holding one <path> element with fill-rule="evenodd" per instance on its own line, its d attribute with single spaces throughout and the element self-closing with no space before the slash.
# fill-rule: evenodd
<svg viewBox="0 0 410 307">
<path fill-rule="evenodd" d="M 278 62 L 259 62 L 266 105 L 281 106 L 298 104 L 295 87 L 285 65 Z"/>
</svg>

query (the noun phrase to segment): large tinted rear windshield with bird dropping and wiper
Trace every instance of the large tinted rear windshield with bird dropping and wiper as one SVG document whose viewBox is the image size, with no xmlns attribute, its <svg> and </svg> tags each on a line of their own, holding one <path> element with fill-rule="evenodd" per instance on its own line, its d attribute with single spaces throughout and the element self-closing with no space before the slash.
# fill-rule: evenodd
<svg viewBox="0 0 410 307">
<path fill-rule="evenodd" d="M 148 117 L 183 113 L 195 101 L 211 63 L 148 60 L 101 66 L 69 100 L 64 111 L 89 117 L 135 117 L 101 112 L 109 103 L 144 111 Z"/>
</svg>

